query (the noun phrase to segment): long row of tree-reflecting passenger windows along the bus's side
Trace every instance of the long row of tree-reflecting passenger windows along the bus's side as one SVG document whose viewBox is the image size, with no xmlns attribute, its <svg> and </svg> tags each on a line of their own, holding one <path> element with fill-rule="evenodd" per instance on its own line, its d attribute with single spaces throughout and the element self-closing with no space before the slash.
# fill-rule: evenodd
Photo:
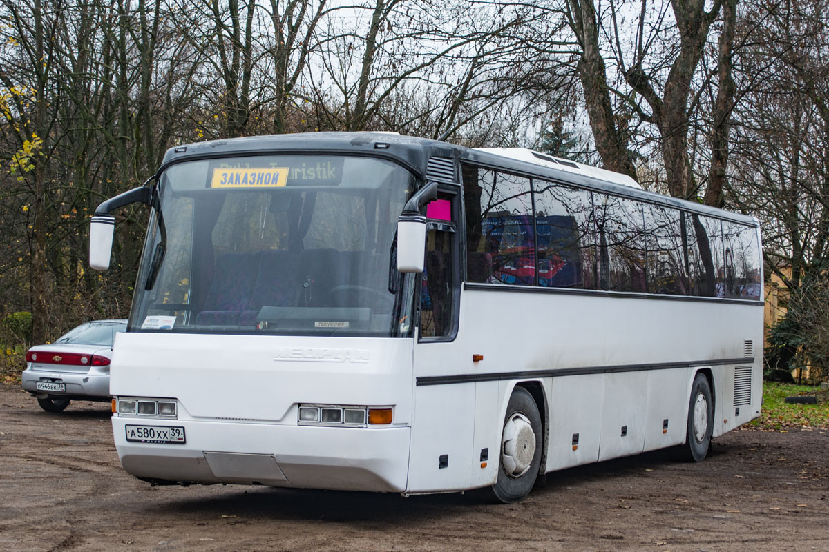
<svg viewBox="0 0 829 552">
<path fill-rule="evenodd" d="M 535 212 L 527 179 L 463 167 L 468 281 L 759 300 L 757 228 L 541 179 L 531 185 Z"/>
</svg>

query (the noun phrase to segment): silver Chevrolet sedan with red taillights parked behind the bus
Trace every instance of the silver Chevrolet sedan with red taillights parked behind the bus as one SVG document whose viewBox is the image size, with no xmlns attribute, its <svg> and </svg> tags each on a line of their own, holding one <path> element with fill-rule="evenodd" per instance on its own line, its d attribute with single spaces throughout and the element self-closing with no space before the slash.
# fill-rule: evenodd
<svg viewBox="0 0 829 552">
<path fill-rule="evenodd" d="M 26 353 L 23 389 L 43 410 L 60 412 L 70 401 L 109 401 L 109 361 L 116 332 L 126 320 L 94 320 L 80 324 L 49 345 Z"/>
</svg>

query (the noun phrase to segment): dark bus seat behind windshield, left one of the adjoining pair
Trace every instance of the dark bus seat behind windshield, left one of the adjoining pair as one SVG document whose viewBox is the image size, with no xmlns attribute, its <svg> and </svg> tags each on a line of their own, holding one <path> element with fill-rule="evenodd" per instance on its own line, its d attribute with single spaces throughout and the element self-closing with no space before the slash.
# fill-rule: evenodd
<svg viewBox="0 0 829 552">
<path fill-rule="evenodd" d="M 235 325 L 250 301 L 259 258 L 252 253 L 225 253 L 216 257 L 216 270 L 196 324 Z"/>
</svg>

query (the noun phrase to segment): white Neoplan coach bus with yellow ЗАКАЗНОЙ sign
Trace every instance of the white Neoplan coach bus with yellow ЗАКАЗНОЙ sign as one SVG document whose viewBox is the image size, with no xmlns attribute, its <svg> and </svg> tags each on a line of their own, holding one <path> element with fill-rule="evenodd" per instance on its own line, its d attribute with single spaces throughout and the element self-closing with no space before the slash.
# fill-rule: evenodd
<svg viewBox="0 0 829 552">
<path fill-rule="evenodd" d="M 759 415 L 756 219 L 524 150 L 385 133 L 203 142 L 151 206 L 110 391 L 128 473 L 525 497 Z"/>
</svg>

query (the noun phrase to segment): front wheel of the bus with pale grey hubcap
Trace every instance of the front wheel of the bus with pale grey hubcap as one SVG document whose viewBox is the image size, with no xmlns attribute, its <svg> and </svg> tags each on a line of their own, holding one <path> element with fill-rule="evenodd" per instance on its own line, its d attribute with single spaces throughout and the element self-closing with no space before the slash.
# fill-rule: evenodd
<svg viewBox="0 0 829 552">
<path fill-rule="evenodd" d="M 498 453 L 498 479 L 492 487 L 482 489 L 491 502 L 520 501 L 538 478 L 544 434 L 541 415 L 530 391 L 516 387 L 507 404 Z"/>
</svg>

